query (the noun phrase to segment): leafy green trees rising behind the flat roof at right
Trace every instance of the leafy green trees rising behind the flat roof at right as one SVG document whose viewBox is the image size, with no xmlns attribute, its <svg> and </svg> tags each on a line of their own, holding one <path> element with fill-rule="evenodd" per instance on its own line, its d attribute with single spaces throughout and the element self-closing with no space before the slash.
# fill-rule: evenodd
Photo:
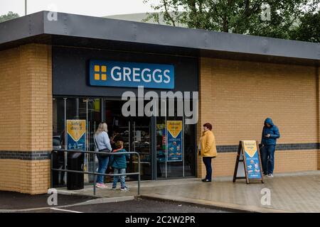
<svg viewBox="0 0 320 227">
<path fill-rule="evenodd" d="M 298 35 L 303 31 L 299 26 L 311 23 L 309 26 L 319 27 L 319 16 L 307 17 L 319 11 L 319 6 L 320 0 L 161 0 L 151 6 L 159 13 L 149 13 L 144 21 L 159 22 L 160 15 L 171 26 L 183 24 L 210 31 L 302 38 Z M 311 36 L 312 40 L 319 40 L 320 34 Z"/>
</svg>

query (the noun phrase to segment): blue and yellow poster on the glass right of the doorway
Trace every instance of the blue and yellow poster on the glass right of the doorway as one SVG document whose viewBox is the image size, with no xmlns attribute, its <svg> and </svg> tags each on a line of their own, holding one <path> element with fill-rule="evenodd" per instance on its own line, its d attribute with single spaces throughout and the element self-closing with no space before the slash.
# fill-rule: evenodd
<svg viewBox="0 0 320 227">
<path fill-rule="evenodd" d="M 182 161 L 182 121 L 167 121 L 167 162 Z"/>
</svg>

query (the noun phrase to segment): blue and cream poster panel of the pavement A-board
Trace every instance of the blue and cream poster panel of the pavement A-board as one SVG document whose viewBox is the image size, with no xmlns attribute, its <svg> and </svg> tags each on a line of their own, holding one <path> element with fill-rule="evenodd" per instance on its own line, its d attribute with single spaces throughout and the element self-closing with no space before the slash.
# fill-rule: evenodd
<svg viewBox="0 0 320 227">
<path fill-rule="evenodd" d="M 255 140 L 244 140 L 243 150 L 245 151 L 245 165 L 248 179 L 261 179 L 260 158 L 257 152 Z"/>
</svg>

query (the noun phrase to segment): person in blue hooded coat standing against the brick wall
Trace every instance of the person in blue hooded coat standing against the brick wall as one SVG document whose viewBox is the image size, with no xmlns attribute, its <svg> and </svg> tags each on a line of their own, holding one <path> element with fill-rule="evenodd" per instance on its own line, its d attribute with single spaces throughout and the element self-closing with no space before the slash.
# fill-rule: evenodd
<svg viewBox="0 0 320 227">
<path fill-rule="evenodd" d="M 271 118 L 265 119 L 265 126 L 262 129 L 261 162 L 263 174 L 273 177 L 274 151 L 277 145 L 277 138 L 280 137 L 279 129 L 274 125 Z"/>
</svg>

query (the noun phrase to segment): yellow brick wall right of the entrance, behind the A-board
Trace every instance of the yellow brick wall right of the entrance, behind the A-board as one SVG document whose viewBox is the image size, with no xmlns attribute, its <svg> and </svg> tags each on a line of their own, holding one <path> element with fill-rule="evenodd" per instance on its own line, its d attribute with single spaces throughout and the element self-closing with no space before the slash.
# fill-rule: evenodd
<svg viewBox="0 0 320 227">
<path fill-rule="evenodd" d="M 319 143 L 319 90 L 315 67 L 201 58 L 200 118 L 217 145 L 261 140 L 263 121 L 279 127 L 278 143 Z M 318 157 L 317 157 L 318 153 Z M 278 151 L 274 172 L 317 170 L 317 150 Z M 219 153 L 215 176 L 233 175 L 235 153 Z M 318 165 L 318 167 L 317 167 Z M 206 174 L 198 160 L 198 176 Z"/>
</svg>

